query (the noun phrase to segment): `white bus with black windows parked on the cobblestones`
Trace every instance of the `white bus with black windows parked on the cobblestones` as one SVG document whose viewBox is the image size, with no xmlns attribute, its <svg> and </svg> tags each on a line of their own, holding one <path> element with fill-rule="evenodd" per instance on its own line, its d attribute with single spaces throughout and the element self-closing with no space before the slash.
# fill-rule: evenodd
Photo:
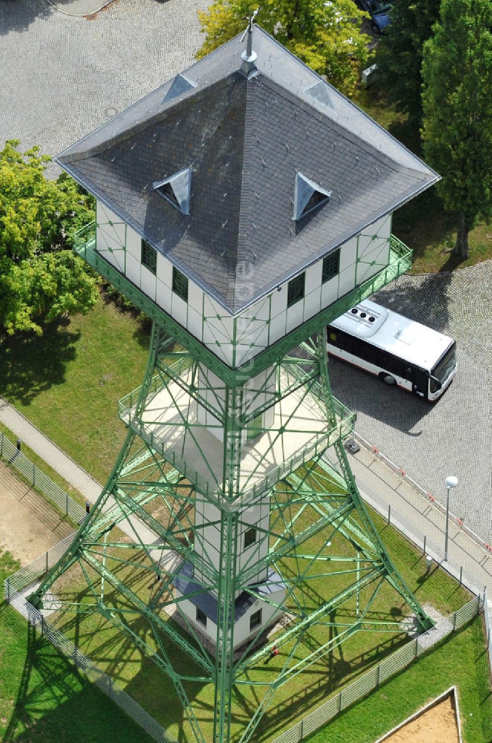
<svg viewBox="0 0 492 743">
<path fill-rule="evenodd" d="M 426 400 L 456 374 L 456 341 L 366 299 L 327 328 L 329 354 Z"/>
</svg>

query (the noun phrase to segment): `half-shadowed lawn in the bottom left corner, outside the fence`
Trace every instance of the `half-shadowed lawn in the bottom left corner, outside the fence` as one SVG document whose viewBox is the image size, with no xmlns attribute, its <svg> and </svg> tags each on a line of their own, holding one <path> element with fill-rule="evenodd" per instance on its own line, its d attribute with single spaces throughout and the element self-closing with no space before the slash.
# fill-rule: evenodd
<svg viewBox="0 0 492 743">
<path fill-rule="evenodd" d="M 0 554 L 0 581 L 19 565 Z M 151 743 L 128 716 L 4 601 L 0 603 L 2 743 Z"/>
</svg>

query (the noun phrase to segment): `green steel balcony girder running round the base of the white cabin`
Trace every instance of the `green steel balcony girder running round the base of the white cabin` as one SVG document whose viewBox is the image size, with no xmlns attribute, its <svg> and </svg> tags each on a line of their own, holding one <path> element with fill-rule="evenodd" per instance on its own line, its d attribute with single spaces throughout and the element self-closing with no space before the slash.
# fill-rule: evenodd
<svg viewBox="0 0 492 743">
<path fill-rule="evenodd" d="M 358 302 L 372 296 L 376 291 L 379 291 L 393 281 L 393 279 L 396 279 L 397 276 L 401 276 L 401 273 L 405 273 L 412 265 L 412 251 L 392 235 L 390 238 L 389 265 L 382 268 L 375 276 L 372 276 L 347 292 L 347 294 L 344 294 L 344 296 L 328 308 L 319 312 L 315 317 L 312 317 L 304 322 L 303 325 L 286 334 L 285 337 L 267 348 L 266 351 L 262 351 L 258 356 L 255 356 L 254 364 L 245 364 L 239 366 L 237 369 L 231 369 L 210 351 L 206 345 L 203 345 L 203 343 L 200 343 L 199 340 L 191 336 L 179 322 L 172 319 L 149 296 L 140 291 L 122 273 L 119 273 L 111 263 L 108 263 L 108 261 L 97 253 L 95 222 L 82 227 L 82 230 L 76 233 L 74 250 L 77 255 L 87 261 L 101 276 L 108 279 L 118 291 L 142 310 L 147 317 L 163 328 L 177 343 L 188 348 L 192 356 L 201 360 L 214 374 L 217 374 L 217 377 L 220 377 L 220 379 L 231 387 L 242 384 L 244 380 L 250 379 L 256 374 L 260 374 L 261 371 L 264 371 L 269 366 L 272 366 L 279 357 L 284 356 L 291 348 L 299 345 L 312 334 L 317 334 L 329 322 L 340 317 L 340 315 L 358 304 Z"/>
</svg>

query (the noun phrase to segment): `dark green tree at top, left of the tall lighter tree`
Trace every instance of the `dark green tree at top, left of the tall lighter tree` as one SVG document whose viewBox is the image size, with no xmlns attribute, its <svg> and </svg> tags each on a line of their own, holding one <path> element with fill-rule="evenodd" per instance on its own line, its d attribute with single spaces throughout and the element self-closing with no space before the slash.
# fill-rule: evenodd
<svg viewBox="0 0 492 743">
<path fill-rule="evenodd" d="M 408 114 L 419 129 L 422 123 L 422 56 L 424 42 L 439 19 L 441 0 L 393 0 L 391 25 L 378 43 L 378 85 L 398 111 Z"/>
</svg>

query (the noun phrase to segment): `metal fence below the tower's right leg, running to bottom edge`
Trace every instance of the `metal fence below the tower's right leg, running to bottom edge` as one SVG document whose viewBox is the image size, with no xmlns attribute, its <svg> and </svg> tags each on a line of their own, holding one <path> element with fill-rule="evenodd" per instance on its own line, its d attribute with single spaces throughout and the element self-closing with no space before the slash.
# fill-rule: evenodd
<svg viewBox="0 0 492 743">
<path fill-rule="evenodd" d="M 439 624 L 436 624 L 433 629 L 425 632 L 424 635 L 417 636 L 410 643 L 407 643 L 400 649 L 396 650 L 388 658 L 384 658 L 384 661 L 378 663 L 377 666 L 364 673 L 360 678 L 354 681 L 347 687 L 344 687 L 338 694 L 332 696 L 321 707 L 314 710 L 311 714 L 304 717 L 300 722 L 296 723 L 293 727 L 282 733 L 281 736 L 275 738 L 273 743 L 299 743 L 304 740 L 315 730 L 326 725 L 339 713 L 343 712 L 350 707 L 354 702 L 359 701 L 361 698 L 377 689 L 378 686 L 388 678 L 402 671 L 404 668 L 413 663 L 416 658 L 419 658 L 423 652 L 429 649 L 433 644 L 442 640 L 443 637 L 447 637 L 451 632 L 456 632 L 464 626 L 470 619 L 476 617 L 477 614 L 482 610 L 482 607 L 487 610 L 487 604 L 481 596 L 476 596 L 469 601 L 461 609 L 455 611 L 450 617 L 446 617 Z"/>
</svg>

